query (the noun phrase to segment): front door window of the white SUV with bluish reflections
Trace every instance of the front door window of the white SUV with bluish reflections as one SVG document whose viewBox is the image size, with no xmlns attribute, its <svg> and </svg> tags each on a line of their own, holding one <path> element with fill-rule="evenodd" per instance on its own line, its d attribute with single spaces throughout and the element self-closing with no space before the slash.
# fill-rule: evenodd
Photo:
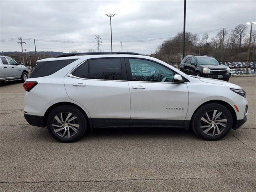
<svg viewBox="0 0 256 192">
<path fill-rule="evenodd" d="M 173 82 L 174 72 L 160 64 L 142 59 L 129 59 L 133 81 Z"/>
</svg>

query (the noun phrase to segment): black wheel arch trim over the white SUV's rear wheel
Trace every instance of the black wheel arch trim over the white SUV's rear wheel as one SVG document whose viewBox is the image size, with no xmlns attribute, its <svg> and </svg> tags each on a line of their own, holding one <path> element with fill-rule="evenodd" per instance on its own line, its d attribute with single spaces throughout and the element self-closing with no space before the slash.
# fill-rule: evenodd
<svg viewBox="0 0 256 192">
<path fill-rule="evenodd" d="M 69 106 L 73 106 L 75 108 L 78 108 L 79 110 L 81 110 L 81 112 L 84 114 L 84 116 L 86 117 L 86 120 L 89 124 L 89 127 L 92 128 L 92 122 L 90 120 L 90 118 L 88 118 L 88 115 L 86 114 L 86 112 L 80 107 L 78 106 L 77 104 L 74 104 L 74 103 L 71 103 L 71 102 L 58 102 L 58 103 L 55 103 L 53 104 L 52 106 L 50 106 L 46 112 L 44 113 L 44 125 L 46 125 L 46 122 L 47 122 L 47 118 L 48 118 L 48 115 L 50 114 L 50 112 L 55 109 L 56 107 L 58 106 L 62 106 L 62 105 L 69 105 Z"/>
</svg>

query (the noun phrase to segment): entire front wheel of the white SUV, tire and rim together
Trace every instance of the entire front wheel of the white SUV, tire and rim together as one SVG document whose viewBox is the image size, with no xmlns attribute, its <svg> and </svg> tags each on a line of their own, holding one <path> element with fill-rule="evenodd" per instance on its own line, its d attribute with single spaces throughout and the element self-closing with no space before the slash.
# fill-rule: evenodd
<svg viewBox="0 0 256 192">
<path fill-rule="evenodd" d="M 200 107 L 192 118 L 193 131 L 205 140 L 219 140 L 232 128 L 233 119 L 230 111 L 217 103 Z"/>
</svg>

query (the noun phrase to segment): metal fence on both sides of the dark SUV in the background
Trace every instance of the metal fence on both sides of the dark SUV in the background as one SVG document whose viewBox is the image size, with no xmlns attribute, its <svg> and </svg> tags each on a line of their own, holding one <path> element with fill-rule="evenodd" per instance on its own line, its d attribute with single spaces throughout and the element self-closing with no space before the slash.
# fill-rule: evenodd
<svg viewBox="0 0 256 192">
<path fill-rule="evenodd" d="M 171 66 L 180 69 L 180 62 L 170 62 Z M 231 75 L 244 75 L 246 74 L 246 61 L 223 61 L 222 64 L 231 69 Z M 248 73 L 256 74 L 256 60 L 248 62 Z"/>
</svg>

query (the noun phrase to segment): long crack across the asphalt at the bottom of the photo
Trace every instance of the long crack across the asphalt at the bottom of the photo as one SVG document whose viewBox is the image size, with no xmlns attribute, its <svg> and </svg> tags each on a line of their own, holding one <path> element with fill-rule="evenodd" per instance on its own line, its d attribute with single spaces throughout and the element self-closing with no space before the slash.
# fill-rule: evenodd
<svg viewBox="0 0 256 192">
<path fill-rule="evenodd" d="M 122 180 L 62 180 L 62 181 L 28 181 L 28 182 L 0 182 L 1 184 L 34 184 L 34 183 L 62 183 L 62 182 L 126 182 L 126 181 L 150 181 L 150 180 L 198 180 L 198 179 L 214 179 L 206 178 L 148 178 L 148 179 L 122 179 Z M 216 178 L 215 178 L 216 179 Z"/>
</svg>

